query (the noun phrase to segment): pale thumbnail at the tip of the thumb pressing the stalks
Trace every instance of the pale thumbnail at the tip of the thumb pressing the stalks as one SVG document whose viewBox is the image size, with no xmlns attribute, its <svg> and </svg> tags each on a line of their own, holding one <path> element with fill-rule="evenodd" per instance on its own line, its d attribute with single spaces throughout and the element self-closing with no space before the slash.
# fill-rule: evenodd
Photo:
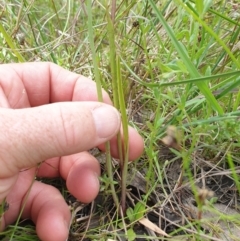
<svg viewBox="0 0 240 241">
<path fill-rule="evenodd" d="M 100 106 L 93 110 L 93 118 L 100 138 L 113 136 L 120 128 L 120 115 L 118 111 L 108 105 Z"/>
</svg>

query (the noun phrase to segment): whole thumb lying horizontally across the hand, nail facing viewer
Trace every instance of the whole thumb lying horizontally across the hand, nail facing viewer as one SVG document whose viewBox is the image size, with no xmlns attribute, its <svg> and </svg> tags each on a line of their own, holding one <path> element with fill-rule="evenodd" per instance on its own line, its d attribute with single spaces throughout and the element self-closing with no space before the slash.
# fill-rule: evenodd
<svg viewBox="0 0 240 241">
<path fill-rule="evenodd" d="M 56 156 L 85 151 L 120 128 L 117 110 L 99 102 L 64 102 L 0 109 L 0 178 Z"/>
</svg>

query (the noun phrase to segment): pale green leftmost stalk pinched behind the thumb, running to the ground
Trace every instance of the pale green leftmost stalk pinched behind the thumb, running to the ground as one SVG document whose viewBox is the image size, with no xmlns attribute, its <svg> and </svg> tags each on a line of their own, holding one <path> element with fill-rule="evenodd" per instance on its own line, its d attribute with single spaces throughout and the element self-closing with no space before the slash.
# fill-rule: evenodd
<svg viewBox="0 0 240 241">
<path fill-rule="evenodd" d="M 91 0 L 87 1 L 87 13 L 88 13 L 88 39 L 89 39 L 89 44 L 90 44 L 90 49 L 92 54 L 93 70 L 94 70 L 94 76 L 95 76 L 95 81 L 97 85 L 98 100 L 103 102 L 101 78 L 100 78 L 100 72 L 98 68 L 99 58 L 96 54 L 95 44 L 94 44 L 94 33 L 93 33 L 94 27 L 92 24 L 92 1 Z M 118 197 L 116 194 L 114 181 L 113 181 L 110 143 L 107 142 L 105 146 L 106 146 L 106 168 L 107 168 L 108 178 L 110 180 L 111 193 L 112 193 L 114 203 L 116 207 L 118 207 L 119 201 L 118 201 Z"/>
</svg>

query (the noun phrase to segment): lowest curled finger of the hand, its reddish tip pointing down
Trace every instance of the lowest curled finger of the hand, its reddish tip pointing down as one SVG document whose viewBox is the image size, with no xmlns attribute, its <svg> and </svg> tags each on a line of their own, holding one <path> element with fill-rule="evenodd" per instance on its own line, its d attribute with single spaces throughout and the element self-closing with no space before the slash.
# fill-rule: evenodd
<svg viewBox="0 0 240 241">
<path fill-rule="evenodd" d="M 52 186 L 34 183 L 23 218 L 33 220 L 43 241 L 65 241 L 68 237 L 70 210 L 61 193 Z"/>
</svg>

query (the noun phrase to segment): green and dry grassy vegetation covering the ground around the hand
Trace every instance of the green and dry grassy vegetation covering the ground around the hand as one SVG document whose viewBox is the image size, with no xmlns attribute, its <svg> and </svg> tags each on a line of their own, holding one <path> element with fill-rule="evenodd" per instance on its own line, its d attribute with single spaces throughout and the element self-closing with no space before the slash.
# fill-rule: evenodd
<svg viewBox="0 0 240 241">
<path fill-rule="evenodd" d="M 71 208 L 69 240 L 240 240 L 239 1 L 0 5 L 1 63 L 51 61 L 96 80 L 145 140 L 128 165 L 126 129 L 120 162 L 90 150 L 102 177 L 89 205 L 42 180 Z M 38 240 L 27 220 L 1 239 Z"/>
</svg>

